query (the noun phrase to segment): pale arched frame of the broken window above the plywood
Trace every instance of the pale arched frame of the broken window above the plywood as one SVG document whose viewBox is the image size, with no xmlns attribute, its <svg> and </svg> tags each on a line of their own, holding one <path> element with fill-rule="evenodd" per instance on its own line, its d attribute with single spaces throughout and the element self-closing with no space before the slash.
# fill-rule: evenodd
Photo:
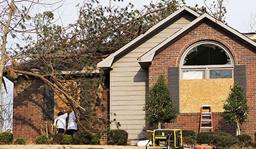
<svg viewBox="0 0 256 149">
<path fill-rule="evenodd" d="M 227 56 L 230 58 L 230 64 L 227 64 L 227 65 L 184 65 L 184 59 L 188 55 L 188 52 L 191 51 L 194 47 L 202 45 L 202 44 L 213 44 L 213 45 L 216 45 L 216 46 L 220 47 L 221 49 L 223 49 L 223 51 L 225 51 Z M 234 78 L 234 59 L 232 57 L 232 54 L 228 51 L 228 49 L 218 42 L 213 42 L 213 41 L 197 42 L 197 43 L 191 45 L 188 49 L 186 49 L 184 54 L 182 54 L 182 58 L 180 59 L 180 80 L 186 80 L 186 79 L 182 79 L 183 71 L 186 71 L 186 70 L 204 70 L 205 71 L 204 79 L 210 79 L 210 70 L 220 70 L 220 69 L 231 70 L 232 71 L 231 78 Z"/>
</svg>

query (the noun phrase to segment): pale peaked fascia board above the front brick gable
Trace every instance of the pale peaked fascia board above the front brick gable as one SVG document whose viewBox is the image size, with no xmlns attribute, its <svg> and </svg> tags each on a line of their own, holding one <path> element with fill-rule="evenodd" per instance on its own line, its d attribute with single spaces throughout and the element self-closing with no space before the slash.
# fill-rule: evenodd
<svg viewBox="0 0 256 149">
<path fill-rule="evenodd" d="M 172 36 L 170 36 L 169 38 L 167 38 L 166 40 L 164 40 L 163 42 L 159 43 L 159 45 L 157 45 L 156 47 L 154 47 L 153 49 L 151 49 L 150 51 L 146 52 L 145 54 L 143 54 L 142 56 L 140 56 L 138 58 L 138 61 L 140 62 L 152 62 L 153 58 L 154 58 L 154 54 L 156 54 L 156 51 L 161 49 L 162 47 L 164 47 L 164 45 L 172 42 L 173 39 L 177 38 L 178 36 L 182 35 L 182 33 L 188 31 L 189 29 L 191 29 L 191 27 L 196 26 L 197 24 L 200 24 L 200 22 L 202 20 L 204 20 L 205 18 L 211 20 L 212 22 L 215 22 L 216 24 L 218 24 L 219 26 L 227 29 L 228 31 L 230 31 L 231 33 L 233 33 L 234 35 L 238 36 L 239 38 L 242 38 L 243 40 L 245 40 L 246 42 L 252 44 L 253 46 L 256 47 L 256 42 L 253 42 L 250 38 L 247 38 L 246 36 L 242 35 L 241 33 L 239 33 L 238 31 L 236 31 L 235 29 L 232 29 L 231 27 L 227 26 L 226 24 L 224 24 L 223 22 L 215 19 L 214 17 L 212 17 L 211 15 L 208 15 L 207 13 L 204 13 L 203 15 L 201 15 L 200 17 L 198 17 L 197 19 L 193 20 L 191 23 L 189 23 L 187 26 L 183 27 L 182 29 L 180 29 L 179 31 L 177 31 L 176 33 L 174 33 Z"/>
</svg>

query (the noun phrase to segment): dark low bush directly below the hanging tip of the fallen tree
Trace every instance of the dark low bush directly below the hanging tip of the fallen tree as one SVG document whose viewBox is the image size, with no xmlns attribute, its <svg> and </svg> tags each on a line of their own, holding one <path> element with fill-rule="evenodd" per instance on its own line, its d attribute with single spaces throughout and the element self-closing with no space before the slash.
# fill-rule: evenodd
<svg viewBox="0 0 256 149">
<path fill-rule="evenodd" d="M 76 132 L 73 134 L 75 145 L 91 145 L 92 134 L 90 132 Z"/>
</svg>

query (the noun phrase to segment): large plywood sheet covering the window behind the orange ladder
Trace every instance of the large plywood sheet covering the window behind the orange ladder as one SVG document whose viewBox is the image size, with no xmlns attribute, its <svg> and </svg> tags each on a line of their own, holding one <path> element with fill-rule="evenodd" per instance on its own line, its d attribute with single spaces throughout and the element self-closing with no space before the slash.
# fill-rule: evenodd
<svg viewBox="0 0 256 149">
<path fill-rule="evenodd" d="M 199 113 L 202 105 L 211 105 L 212 112 L 223 112 L 234 79 L 180 80 L 180 112 Z"/>
</svg>

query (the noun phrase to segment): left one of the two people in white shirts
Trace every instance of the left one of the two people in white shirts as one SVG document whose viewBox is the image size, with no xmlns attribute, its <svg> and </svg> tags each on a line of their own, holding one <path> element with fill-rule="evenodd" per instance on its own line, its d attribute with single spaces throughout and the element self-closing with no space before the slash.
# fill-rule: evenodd
<svg viewBox="0 0 256 149">
<path fill-rule="evenodd" d="M 58 113 L 58 118 L 54 120 L 54 126 L 56 127 L 56 130 L 58 134 L 64 134 L 66 129 L 66 118 L 68 117 L 68 113 Z"/>
</svg>

